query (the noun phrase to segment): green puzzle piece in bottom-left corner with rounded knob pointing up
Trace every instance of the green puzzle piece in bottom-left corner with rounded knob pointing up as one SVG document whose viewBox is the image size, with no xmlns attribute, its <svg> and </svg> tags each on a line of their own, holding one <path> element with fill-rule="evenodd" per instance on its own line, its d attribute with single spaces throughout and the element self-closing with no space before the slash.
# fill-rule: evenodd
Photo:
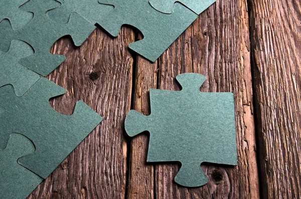
<svg viewBox="0 0 301 199">
<path fill-rule="evenodd" d="M 0 149 L 0 197 L 26 198 L 42 178 L 18 164 L 18 158 L 35 151 L 34 144 L 24 135 L 10 135 L 6 148 Z"/>
</svg>

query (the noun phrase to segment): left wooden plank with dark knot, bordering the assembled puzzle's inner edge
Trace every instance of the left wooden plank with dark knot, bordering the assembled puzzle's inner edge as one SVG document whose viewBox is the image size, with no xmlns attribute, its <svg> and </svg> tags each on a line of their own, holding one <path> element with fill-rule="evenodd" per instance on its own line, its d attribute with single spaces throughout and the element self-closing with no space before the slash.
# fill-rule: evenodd
<svg viewBox="0 0 301 199">
<path fill-rule="evenodd" d="M 127 143 L 123 119 L 130 109 L 133 59 L 127 45 L 134 33 L 122 28 L 116 39 L 100 29 L 80 47 L 58 41 L 53 53 L 67 60 L 49 78 L 67 90 L 53 107 L 71 114 L 83 100 L 104 120 L 29 198 L 124 198 Z"/>
</svg>

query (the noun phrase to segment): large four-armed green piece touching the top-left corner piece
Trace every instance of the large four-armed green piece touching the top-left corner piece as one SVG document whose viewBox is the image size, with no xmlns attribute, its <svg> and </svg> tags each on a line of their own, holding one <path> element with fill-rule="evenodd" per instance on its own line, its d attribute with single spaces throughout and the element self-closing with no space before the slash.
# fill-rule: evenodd
<svg viewBox="0 0 301 199">
<path fill-rule="evenodd" d="M 58 67 L 65 56 L 51 54 L 50 48 L 55 41 L 70 35 L 76 46 L 80 46 L 93 32 L 95 27 L 81 18 L 71 14 L 68 24 L 61 24 L 47 17 L 46 12 L 57 8 L 54 0 L 31 0 L 20 9 L 34 13 L 34 18 L 22 29 L 13 30 L 8 20 L 0 23 L 0 50 L 6 51 L 12 40 L 22 40 L 30 44 L 35 54 L 20 60 L 20 64 L 46 76 Z"/>
</svg>

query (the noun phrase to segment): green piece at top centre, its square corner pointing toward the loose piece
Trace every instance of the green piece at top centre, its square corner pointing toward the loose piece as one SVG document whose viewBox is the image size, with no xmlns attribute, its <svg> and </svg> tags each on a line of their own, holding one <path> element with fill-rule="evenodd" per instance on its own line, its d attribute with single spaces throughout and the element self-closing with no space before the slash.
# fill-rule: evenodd
<svg viewBox="0 0 301 199">
<path fill-rule="evenodd" d="M 181 4 L 175 4 L 174 12 L 166 15 L 150 6 L 148 0 L 99 0 L 99 3 L 114 6 L 114 10 L 105 15 L 99 25 L 113 37 L 117 37 L 122 25 L 137 28 L 143 39 L 128 47 L 153 62 L 198 17 Z"/>
</svg>

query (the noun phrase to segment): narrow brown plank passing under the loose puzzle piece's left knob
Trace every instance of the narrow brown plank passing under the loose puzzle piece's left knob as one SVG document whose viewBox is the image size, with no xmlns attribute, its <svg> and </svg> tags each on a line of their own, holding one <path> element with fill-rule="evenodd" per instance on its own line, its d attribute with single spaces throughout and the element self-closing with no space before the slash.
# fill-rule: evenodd
<svg viewBox="0 0 301 199">
<path fill-rule="evenodd" d="M 141 35 L 138 39 L 142 39 Z M 158 63 L 150 63 L 137 56 L 134 75 L 132 109 L 143 115 L 150 114 L 149 89 L 157 88 Z M 149 133 L 131 139 L 128 170 L 127 198 L 154 198 L 154 164 L 146 164 Z"/>
</svg>

